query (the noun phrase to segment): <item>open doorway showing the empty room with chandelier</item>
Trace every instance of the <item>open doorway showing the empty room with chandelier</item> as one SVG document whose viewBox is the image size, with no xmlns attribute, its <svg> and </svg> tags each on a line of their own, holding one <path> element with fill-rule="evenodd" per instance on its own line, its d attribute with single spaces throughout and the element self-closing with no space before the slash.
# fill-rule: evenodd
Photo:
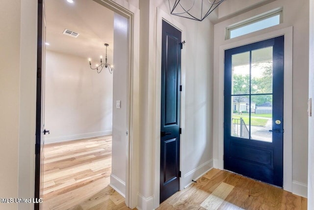
<svg viewBox="0 0 314 210">
<path fill-rule="evenodd" d="M 41 195 L 44 195 L 44 204 L 41 207 L 45 209 L 45 204 L 49 203 L 45 202 L 45 194 L 50 194 L 53 199 L 59 196 L 64 201 L 57 199 L 60 201 L 59 204 L 50 202 L 54 206 L 49 208 L 58 206 L 61 209 L 68 209 L 69 205 L 73 207 L 76 203 L 68 202 L 71 199 L 67 199 L 65 194 L 71 195 L 74 190 L 77 190 L 78 195 L 86 194 L 78 191 L 84 187 L 85 190 L 88 188 L 87 191 L 96 194 L 99 190 L 90 188 L 92 187 L 90 183 L 95 185 L 97 180 L 101 179 L 104 180 L 98 183 L 101 189 L 106 190 L 105 185 L 110 182 L 112 188 L 116 190 L 115 192 L 110 188 L 110 194 L 117 194 L 114 196 L 116 199 L 114 203 L 119 205 L 122 201 L 124 204 L 122 196 L 127 194 L 128 168 L 125 156 L 129 153 L 127 144 L 130 126 L 129 20 L 92 0 L 76 0 L 73 3 L 66 0 L 46 0 L 43 17 L 45 14 L 47 51 L 43 52 L 46 56 L 43 56 L 41 115 L 44 117 L 46 115 L 46 120 L 42 120 L 42 123 L 45 124 L 46 121 L 49 132 L 46 130 L 46 140 L 42 138 L 41 144 L 47 146 L 49 150 L 42 153 L 40 161 L 41 165 L 43 162 L 48 164 L 41 167 L 41 170 L 45 170 L 44 175 L 40 177 Z M 104 22 L 111 22 L 111 26 Z M 75 38 L 62 34 L 62 31 L 55 32 L 59 28 L 64 28 L 62 31 L 71 28 L 70 30 L 79 35 Z M 46 38 L 45 33 L 43 36 Z M 59 40 L 58 37 L 65 38 Z M 109 74 L 104 68 L 97 74 L 95 70 L 90 69 L 88 58 L 99 62 L 99 56 L 105 58 L 104 43 L 109 43 L 108 63 L 116 63 L 114 65 L 114 68 L 118 69 L 116 73 Z M 114 52 L 113 46 L 116 47 Z M 114 84 L 117 84 L 116 87 Z M 111 134 L 115 140 L 112 149 Z M 64 142 L 65 145 L 60 142 Z M 80 148 L 82 145 L 84 149 Z M 58 153 L 60 151 L 58 149 L 63 153 Z M 74 152 L 75 149 L 78 149 L 78 152 Z M 46 161 L 43 161 L 43 156 Z M 111 156 L 114 156 L 112 165 L 115 167 L 112 173 Z M 36 168 L 37 166 L 36 163 Z M 69 172 L 68 175 L 66 172 Z M 122 196 L 117 199 L 119 193 Z M 84 198 L 78 197 L 77 200 L 82 203 Z"/>
</svg>

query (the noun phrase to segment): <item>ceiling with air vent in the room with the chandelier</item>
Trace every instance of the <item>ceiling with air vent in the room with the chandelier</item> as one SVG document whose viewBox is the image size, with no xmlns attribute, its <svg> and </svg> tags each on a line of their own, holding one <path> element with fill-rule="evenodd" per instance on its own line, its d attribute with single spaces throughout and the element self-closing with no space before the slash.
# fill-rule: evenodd
<svg viewBox="0 0 314 210">
<path fill-rule="evenodd" d="M 47 50 L 92 58 L 94 63 L 105 58 L 104 43 L 108 43 L 108 62 L 113 55 L 114 12 L 93 0 L 45 0 Z M 80 33 L 77 38 L 63 34 L 65 29 Z"/>
</svg>

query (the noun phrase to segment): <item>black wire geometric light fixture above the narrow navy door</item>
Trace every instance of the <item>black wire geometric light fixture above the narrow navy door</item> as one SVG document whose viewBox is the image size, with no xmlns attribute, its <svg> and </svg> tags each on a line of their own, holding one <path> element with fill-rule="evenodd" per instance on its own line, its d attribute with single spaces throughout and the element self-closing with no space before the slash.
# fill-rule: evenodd
<svg viewBox="0 0 314 210">
<path fill-rule="evenodd" d="M 172 15 L 196 21 L 204 20 L 224 0 L 168 0 Z"/>
</svg>

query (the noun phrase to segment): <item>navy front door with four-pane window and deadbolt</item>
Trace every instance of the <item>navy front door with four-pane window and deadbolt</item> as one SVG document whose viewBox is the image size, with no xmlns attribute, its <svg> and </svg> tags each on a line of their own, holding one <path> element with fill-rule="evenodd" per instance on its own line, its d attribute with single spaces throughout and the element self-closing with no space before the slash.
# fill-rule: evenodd
<svg viewBox="0 0 314 210">
<path fill-rule="evenodd" d="M 224 168 L 283 186 L 284 36 L 225 51 Z"/>
</svg>

